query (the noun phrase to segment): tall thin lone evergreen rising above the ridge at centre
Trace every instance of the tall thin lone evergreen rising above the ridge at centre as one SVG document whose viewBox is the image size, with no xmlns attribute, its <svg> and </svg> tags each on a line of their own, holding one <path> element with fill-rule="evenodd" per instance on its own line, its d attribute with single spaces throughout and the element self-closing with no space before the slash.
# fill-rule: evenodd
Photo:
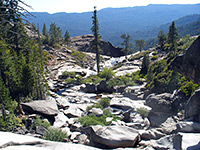
<svg viewBox="0 0 200 150">
<path fill-rule="evenodd" d="M 98 24 L 98 19 L 97 19 L 96 7 L 94 7 L 94 15 L 92 16 L 92 19 L 93 19 L 93 26 L 92 26 L 91 30 L 94 34 L 94 40 L 92 41 L 92 46 L 93 46 L 93 50 L 95 50 L 95 52 L 96 52 L 97 72 L 99 73 L 99 71 L 100 71 L 100 66 L 99 66 L 99 63 L 100 63 L 100 55 L 99 55 L 100 34 L 99 34 L 99 24 Z"/>
</svg>

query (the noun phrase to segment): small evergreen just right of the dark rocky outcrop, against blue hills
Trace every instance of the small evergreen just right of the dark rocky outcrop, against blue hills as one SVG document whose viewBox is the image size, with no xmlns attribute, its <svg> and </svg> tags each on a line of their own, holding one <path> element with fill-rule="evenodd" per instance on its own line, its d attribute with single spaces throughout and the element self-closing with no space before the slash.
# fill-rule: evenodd
<svg viewBox="0 0 200 150">
<path fill-rule="evenodd" d="M 123 52 L 124 52 L 125 56 L 127 56 L 128 54 L 130 54 L 133 51 L 133 49 L 131 48 L 133 45 L 130 43 L 131 36 L 122 34 L 120 37 L 124 40 L 121 43 L 121 45 L 124 47 Z"/>
</svg>

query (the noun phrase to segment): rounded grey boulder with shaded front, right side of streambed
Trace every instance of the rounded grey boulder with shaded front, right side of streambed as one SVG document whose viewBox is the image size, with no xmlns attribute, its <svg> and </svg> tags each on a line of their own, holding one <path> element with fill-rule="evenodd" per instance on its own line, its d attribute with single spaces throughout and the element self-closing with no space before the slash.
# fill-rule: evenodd
<svg viewBox="0 0 200 150">
<path fill-rule="evenodd" d="M 170 113 L 171 110 L 171 94 L 163 93 L 156 95 L 150 94 L 146 98 L 146 105 L 152 108 L 153 112 Z"/>
</svg>

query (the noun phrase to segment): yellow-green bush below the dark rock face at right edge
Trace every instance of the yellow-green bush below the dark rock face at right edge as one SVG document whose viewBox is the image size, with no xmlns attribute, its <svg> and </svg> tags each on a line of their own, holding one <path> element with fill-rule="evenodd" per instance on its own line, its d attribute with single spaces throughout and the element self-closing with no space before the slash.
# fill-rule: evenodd
<svg viewBox="0 0 200 150">
<path fill-rule="evenodd" d="M 188 97 L 199 87 L 198 84 L 194 84 L 192 81 L 187 81 L 185 77 L 182 77 L 179 82 L 180 90 Z"/>
</svg>

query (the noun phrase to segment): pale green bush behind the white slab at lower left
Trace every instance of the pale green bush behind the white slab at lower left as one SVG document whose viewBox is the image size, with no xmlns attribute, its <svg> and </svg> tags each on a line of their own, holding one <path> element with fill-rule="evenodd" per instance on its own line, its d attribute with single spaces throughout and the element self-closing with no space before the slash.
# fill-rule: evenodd
<svg viewBox="0 0 200 150">
<path fill-rule="evenodd" d="M 67 133 L 61 129 L 49 128 L 42 138 L 50 141 L 64 142 L 67 138 Z"/>
</svg>

